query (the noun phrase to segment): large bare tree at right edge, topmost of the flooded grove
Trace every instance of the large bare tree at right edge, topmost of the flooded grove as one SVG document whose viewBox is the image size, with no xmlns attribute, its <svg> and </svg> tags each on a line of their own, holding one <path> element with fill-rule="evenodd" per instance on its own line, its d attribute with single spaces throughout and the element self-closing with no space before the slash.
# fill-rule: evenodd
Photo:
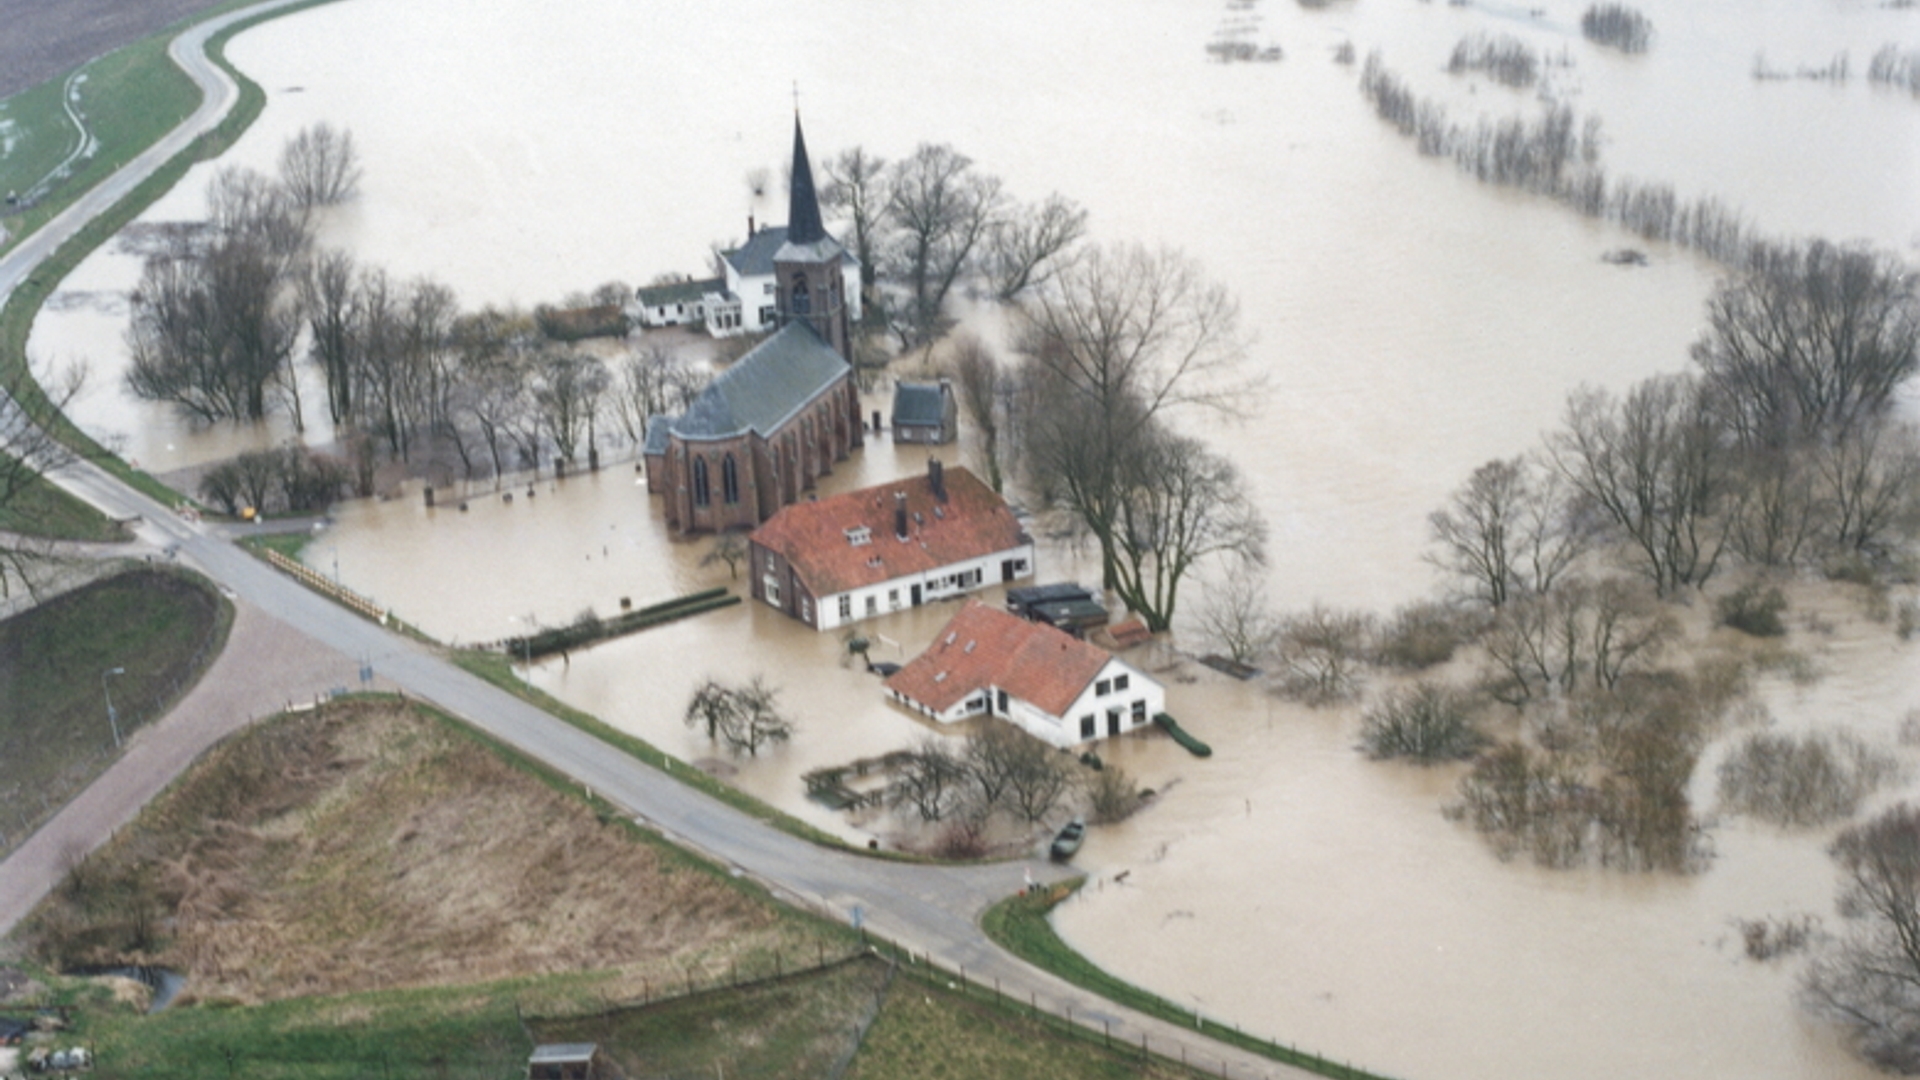
<svg viewBox="0 0 1920 1080">
<path fill-rule="evenodd" d="M 1920 371 L 1920 282 L 1864 248 L 1755 246 L 1707 302 L 1693 361 L 1743 446 L 1853 430 Z"/>
</svg>

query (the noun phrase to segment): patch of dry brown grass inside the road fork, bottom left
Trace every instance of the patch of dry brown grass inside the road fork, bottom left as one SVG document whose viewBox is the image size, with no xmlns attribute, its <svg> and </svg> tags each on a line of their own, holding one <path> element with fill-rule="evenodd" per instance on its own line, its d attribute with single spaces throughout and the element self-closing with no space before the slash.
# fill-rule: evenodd
<svg viewBox="0 0 1920 1080">
<path fill-rule="evenodd" d="M 94 863 L 86 888 L 36 913 L 40 953 L 136 953 L 188 970 L 200 999 L 597 969 L 616 969 L 618 994 L 774 947 L 812 951 L 714 872 L 386 701 L 221 746 Z M 159 932 L 138 947 L 148 922 Z"/>
</svg>

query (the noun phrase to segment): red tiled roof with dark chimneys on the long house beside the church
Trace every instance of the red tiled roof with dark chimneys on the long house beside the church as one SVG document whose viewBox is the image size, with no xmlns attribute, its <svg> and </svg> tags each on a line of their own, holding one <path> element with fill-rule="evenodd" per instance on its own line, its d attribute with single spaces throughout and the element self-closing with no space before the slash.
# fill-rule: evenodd
<svg viewBox="0 0 1920 1080">
<path fill-rule="evenodd" d="M 1031 544 L 979 477 L 954 467 L 945 479 L 945 503 L 933 498 L 927 477 L 799 502 L 756 528 L 753 542 L 785 557 L 820 598 Z M 893 528 L 897 492 L 906 494 L 904 542 Z M 860 528 L 866 544 L 849 538 Z"/>
</svg>

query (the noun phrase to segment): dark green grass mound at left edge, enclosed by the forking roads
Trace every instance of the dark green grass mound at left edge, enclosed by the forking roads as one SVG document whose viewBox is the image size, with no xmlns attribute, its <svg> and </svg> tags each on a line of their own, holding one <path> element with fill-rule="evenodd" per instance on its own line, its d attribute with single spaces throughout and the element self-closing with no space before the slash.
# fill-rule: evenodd
<svg viewBox="0 0 1920 1080">
<path fill-rule="evenodd" d="M 192 688 L 230 625 L 232 607 L 211 584 L 152 569 L 0 621 L 0 851 L 113 761 L 106 692 L 131 736 Z"/>
</svg>

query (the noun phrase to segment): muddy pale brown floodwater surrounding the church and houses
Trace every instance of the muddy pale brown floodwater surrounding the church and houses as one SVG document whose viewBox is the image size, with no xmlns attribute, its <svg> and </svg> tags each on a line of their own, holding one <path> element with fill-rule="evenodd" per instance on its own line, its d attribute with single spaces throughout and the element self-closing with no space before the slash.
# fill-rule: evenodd
<svg viewBox="0 0 1920 1080">
<path fill-rule="evenodd" d="M 227 161 L 267 169 L 292 131 L 349 127 L 363 196 L 324 221 L 323 242 L 399 279 L 434 275 L 478 306 L 695 273 L 710 244 L 743 236 L 749 211 L 780 221 L 778 192 L 756 198 L 749 175 L 781 177 L 795 85 L 816 161 L 856 142 L 889 158 L 952 142 L 1021 198 L 1085 204 L 1098 240 L 1181 246 L 1233 288 L 1269 392 L 1242 423 L 1185 423 L 1254 486 L 1273 528 L 1267 596 L 1388 609 L 1434 590 L 1425 515 L 1476 463 L 1530 450 L 1580 382 L 1619 390 L 1686 365 L 1716 271 L 1417 158 L 1373 119 L 1357 63 L 1334 63 L 1334 46 L 1379 48 L 1467 119 L 1536 104 L 1448 77 L 1453 42 L 1524 37 L 1571 58 L 1551 85 L 1603 117 L 1611 175 L 1716 196 L 1768 234 L 1920 252 L 1920 102 L 1862 79 L 1882 44 L 1920 46 L 1920 13 L 1645 2 L 1653 52 L 1626 58 L 1580 40 L 1584 6 L 826 0 L 747 4 L 722 27 L 614 0 L 348 0 L 234 42 L 271 96 Z M 1286 58 L 1208 61 L 1227 25 Z M 1843 85 L 1751 79 L 1757 54 L 1793 71 L 1839 50 L 1855 71 Z M 196 217 L 204 177 L 148 219 Z M 1645 248 L 1649 265 L 1599 259 L 1622 246 Z M 94 363 L 83 423 L 156 471 L 286 438 L 284 425 L 196 432 L 125 402 L 113 294 L 136 273 L 131 256 L 88 259 L 71 304 L 35 331 L 42 356 Z M 979 323 L 995 331 L 991 315 Z M 828 488 L 924 457 L 877 442 Z M 426 509 L 409 488 L 344 507 L 307 561 L 461 642 L 724 582 L 724 567 L 699 565 L 703 544 L 666 538 L 636 480 L 630 463 L 536 480 L 534 498 L 518 480 L 511 503 L 488 486 L 467 511 L 445 492 Z M 1066 577 L 1073 553 L 1048 544 L 1044 563 Z M 1834 625 L 1799 642 L 1826 676 L 1764 682 L 1768 713 L 1893 746 L 1899 717 L 1920 707 L 1914 648 L 1851 601 L 1799 600 Z M 912 655 L 945 613 L 874 623 L 877 657 Z M 1688 878 L 1500 863 L 1438 813 L 1457 773 L 1367 763 L 1354 711 L 1306 711 L 1171 655 L 1142 663 L 1215 755 L 1165 740 L 1104 751 L 1162 798 L 1094 830 L 1081 861 L 1100 884 L 1058 924 L 1117 974 L 1402 1076 L 1868 1074 L 1793 1007 L 1795 963 L 1745 961 L 1732 926 L 1832 922 L 1830 832 L 1709 819 L 1716 857 Z M 708 675 L 764 675 L 801 724 L 791 744 L 726 763 L 737 784 L 856 840 L 885 832 L 801 798 L 806 769 L 925 732 L 841 667 L 833 634 L 745 603 L 532 678 L 693 763 L 714 749 L 680 709 Z M 1695 792 L 1707 813 L 1718 751 Z"/>
</svg>

